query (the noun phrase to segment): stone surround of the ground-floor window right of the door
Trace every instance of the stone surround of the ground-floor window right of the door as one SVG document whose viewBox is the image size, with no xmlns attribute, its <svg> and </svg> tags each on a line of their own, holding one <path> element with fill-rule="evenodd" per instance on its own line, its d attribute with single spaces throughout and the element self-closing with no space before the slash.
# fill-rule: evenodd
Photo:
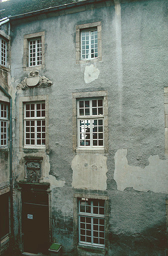
<svg viewBox="0 0 168 256">
<path fill-rule="evenodd" d="M 90 246 L 88 244 L 84 244 L 84 245 L 79 245 L 78 244 L 78 198 L 90 198 L 90 199 L 102 199 L 105 200 L 105 248 L 99 248 L 96 246 Z M 73 195 L 73 230 L 74 230 L 74 248 L 77 250 L 85 251 L 85 249 L 89 248 L 90 252 L 95 252 L 98 251 L 99 253 L 102 252 L 102 254 L 100 255 L 105 255 L 106 250 L 108 248 L 108 212 L 109 212 L 109 197 L 107 195 L 99 195 L 99 194 L 91 194 L 91 193 L 87 193 L 87 192 L 83 192 L 83 193 L 74 193 Z M 79 255 L 83 255 L 80 254 Z M 90 254 L 92 255 L 92 253 Z M 95 254 L 94 254 L 95 255 Z"/>
</svg>

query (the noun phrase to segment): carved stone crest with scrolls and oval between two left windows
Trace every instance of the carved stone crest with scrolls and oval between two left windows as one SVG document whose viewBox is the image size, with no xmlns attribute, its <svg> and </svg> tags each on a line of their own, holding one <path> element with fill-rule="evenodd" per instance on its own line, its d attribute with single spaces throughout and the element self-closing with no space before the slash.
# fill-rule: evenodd
<svg viewBox="0 0 168 256">
<path fill-rule="evenodd" d="M 17 89 L 26 90 L 33 87 L 49 87 L 52 85 L 52 81 L 44 75 L 40 76 L 38 71 L 31 71 L 28 77 L 25 77 L 21 83 L 16 86 Z"/>
</svg>

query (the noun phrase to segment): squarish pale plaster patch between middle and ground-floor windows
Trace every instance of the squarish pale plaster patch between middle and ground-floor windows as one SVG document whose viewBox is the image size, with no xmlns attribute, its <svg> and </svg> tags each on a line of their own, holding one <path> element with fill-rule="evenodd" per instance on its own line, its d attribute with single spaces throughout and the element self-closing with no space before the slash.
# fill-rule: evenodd
<svg viewBox="0 0 168 256">
<path fill-rule="evenodd" d="M 107 156 L 102 154 L 77 154 L 72 160 L 72 186 L 74 188 L 106 190 Z"/>
</svg>

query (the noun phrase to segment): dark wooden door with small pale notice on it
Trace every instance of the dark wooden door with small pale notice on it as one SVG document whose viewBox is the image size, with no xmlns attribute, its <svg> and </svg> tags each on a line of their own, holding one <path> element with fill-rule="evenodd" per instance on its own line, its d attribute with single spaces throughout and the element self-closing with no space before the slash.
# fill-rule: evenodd
<svg viewBox="0 0 168 256">
<path fill-rule="evenodd" d="M 24 251 L 47 253 L 49 248 L 48 205 L 23 202 L 22 223 Z"/>
</svg>

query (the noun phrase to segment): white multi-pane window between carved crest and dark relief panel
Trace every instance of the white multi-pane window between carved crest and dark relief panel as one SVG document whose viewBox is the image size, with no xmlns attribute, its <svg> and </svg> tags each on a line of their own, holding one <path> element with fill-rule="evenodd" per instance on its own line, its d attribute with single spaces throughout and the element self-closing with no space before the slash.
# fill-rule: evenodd
<svg viewBox="0 0 168 256">
<path fill-rule="evenodd" d="M 24 145 L 45 145 L 45 102 L 24 104 Z"/>
</svg>

